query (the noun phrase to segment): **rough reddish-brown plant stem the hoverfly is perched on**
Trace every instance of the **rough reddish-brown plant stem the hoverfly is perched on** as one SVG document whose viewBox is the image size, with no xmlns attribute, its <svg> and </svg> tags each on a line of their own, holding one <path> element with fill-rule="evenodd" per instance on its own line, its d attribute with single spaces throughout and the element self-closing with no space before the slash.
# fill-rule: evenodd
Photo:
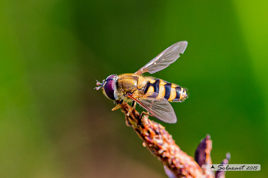
<svg viewBox="0 0 268 178">
<path fill-rule="evenodd" d="M 143 145 L 145 145 L 151 154 L 156 156 L 175 177 L 214 177 L 214 173 L 202 169 L 192 156 L 181 151 L 180 147 L 176 145 L 175 141 L 172 139 L 172 135 L 170 135 L 161 124 L 151 121 L 148 119 L 148 116 L 143 116 L 142 119 L 140 119 L 140 114 L 135 109 L 132 110 L 129 116 L 126 116 L 129 107 L 130 106 L 125 102 L 121 105 L 121 111 L 125 113 L 126 125 L 131 126 L 136 131 L 137 135 L 143 140 Z M 208 157 L 207 160 L 211 160 L 210 150 L 211 149 L 206 150 L 207 153 L 205 156 Z"/>
</svg>

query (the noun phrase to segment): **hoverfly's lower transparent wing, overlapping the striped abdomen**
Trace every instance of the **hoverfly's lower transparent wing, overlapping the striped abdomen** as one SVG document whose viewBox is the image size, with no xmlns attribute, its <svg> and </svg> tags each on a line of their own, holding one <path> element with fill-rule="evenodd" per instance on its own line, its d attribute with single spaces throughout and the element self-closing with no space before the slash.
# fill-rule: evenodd
<svg viewBox="0 0 268 178">
<path fill-rule="evenodd" d="M 129 95 L 128 97 L 137 102 L 159 120 L 172 124 L 177 122 L 174 109 L 170 103 L 158 93 L 148 92 L 143 96 Z"/>
</svg>

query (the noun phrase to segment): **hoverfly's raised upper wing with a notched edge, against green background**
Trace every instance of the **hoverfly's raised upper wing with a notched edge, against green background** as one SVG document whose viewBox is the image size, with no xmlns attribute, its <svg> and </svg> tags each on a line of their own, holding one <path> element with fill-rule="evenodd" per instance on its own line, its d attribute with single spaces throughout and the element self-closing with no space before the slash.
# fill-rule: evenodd
<svg viewBox="0 0 268 178">
<path fill-rule="evenodd" d="M 145 66 L 143 66 L 137 72 L 135 72 L 135 74 L 143 74 L 145 72 L 153 74 L 162 69 L 165 69 L 170 64 L 175 62 L 180 57 L 180 54 L 183 54 L 187 45 L 188 45 L 187 41 L 179 41 L 169 46 L 162 53 L 158 54 L 157 57 L 153 58 Z"/>
</svg>

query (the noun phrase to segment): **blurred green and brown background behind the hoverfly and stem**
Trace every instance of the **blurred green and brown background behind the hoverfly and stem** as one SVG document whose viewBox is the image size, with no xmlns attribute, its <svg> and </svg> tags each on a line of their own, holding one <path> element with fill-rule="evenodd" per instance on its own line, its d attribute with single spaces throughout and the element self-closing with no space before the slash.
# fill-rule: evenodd
<svg viewBox="0 0 268 178">
<path fill-rule="evenodd" d="M 193 156 L 207 133 L 212 161 L 260 164 L 267 177 L 267 1 L 0 2 L 0 177 L 164 178 L 95 79 L 135 72 L 187 40 L 153 76 L 189 89 L 163 124 Z M 147 73 L 147 75 L 150 75 Z M 140 109 L 141 110 L 141 109 Z"/>
</svg>

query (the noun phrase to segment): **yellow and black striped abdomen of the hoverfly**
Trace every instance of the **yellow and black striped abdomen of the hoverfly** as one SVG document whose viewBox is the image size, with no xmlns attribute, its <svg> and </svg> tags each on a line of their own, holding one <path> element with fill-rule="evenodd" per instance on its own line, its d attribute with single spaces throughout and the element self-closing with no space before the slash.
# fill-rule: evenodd
<svg viewBox="0 0 268 178">
<path fill-rule="evenodd" d="M 144 93 L 156 92 L 170 102 L 182 102 L 187 98 L 186 88 L 155 78 L 147 82 Z"/>
</svg>

